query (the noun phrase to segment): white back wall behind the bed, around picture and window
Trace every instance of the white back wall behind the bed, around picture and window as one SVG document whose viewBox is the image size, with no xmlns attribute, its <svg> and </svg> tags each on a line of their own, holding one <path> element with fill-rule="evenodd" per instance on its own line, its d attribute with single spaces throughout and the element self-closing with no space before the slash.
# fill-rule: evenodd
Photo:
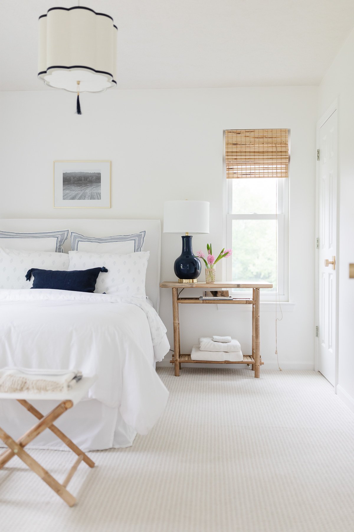
<svg viewBox="0 0 354 532">
<path fill-rule="evenodd" d="M 290 128 L 290 301 L 296 305 L 279 323 L 278 353 L 283 368 L 313 368 L 316 87 L 111 90 L 82 95 L 81 116 L 74 114 L 75 95 L 65 92 L 1 93 L 0 98 L 2 218 L 162 219 L 165 200 L 208 200 L 211 233 L 193 237 L 195 251 L 207 240 L 214 248 L 225 245 L 223 129 Z M 110 159 L 112 208 L 53 209 L 56 159 Z M 178 235 L 162 235 L 163 280 L 174 279 L 180 247 Z M 218 275 L 220 279 L 221 268 Z M 160 314 L 172 344 L 171 294 L 166 289 Z M 261 310 L 266 367 L 276 364 L 274 320 L 274 312 Z M 232 334 L 244 352 L 251 351 L 245 311 L 184 305 L 180 323 L 182 352 L 209 333 Z"/>
</svg>

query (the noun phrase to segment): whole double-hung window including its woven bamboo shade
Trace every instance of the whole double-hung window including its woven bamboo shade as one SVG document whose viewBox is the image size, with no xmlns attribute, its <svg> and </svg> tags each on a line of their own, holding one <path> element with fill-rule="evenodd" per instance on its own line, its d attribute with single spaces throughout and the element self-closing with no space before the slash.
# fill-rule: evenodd
<svg viewBox="0 0 354 532">
<path fill-rule="evenodd" d="M 225 131 L 226 278 L 271 282 L 265 301 L 288 300 L 288 138 L 287 129 Z"/>
</svg>

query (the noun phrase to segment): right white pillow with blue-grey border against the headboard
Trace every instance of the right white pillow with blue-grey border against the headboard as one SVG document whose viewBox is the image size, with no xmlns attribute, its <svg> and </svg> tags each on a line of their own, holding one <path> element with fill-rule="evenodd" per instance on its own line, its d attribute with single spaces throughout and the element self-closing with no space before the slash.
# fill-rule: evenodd
<svg viewBox="0 0 354 532">
<path fill-rule="evenodd" d="M 143 250 L 145 231 L 132 235 L 116 235 L 92 237 L 71 232 L 71 248 L 73 251 L 89 251 L 90 253 L 114 253 L 125 255 Z"/>
</svg>

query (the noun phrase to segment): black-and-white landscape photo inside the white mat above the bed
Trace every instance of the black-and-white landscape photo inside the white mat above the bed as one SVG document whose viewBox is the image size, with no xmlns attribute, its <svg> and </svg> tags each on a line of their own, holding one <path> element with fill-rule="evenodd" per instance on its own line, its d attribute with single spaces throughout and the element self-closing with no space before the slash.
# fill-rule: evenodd
<svg viewBox="0 0 354 532">
<path fill-rule="evenodd" d="M 100 200 L 101 172 L 68 170 L 63 172 L 63 200 Z"/>
</svg>

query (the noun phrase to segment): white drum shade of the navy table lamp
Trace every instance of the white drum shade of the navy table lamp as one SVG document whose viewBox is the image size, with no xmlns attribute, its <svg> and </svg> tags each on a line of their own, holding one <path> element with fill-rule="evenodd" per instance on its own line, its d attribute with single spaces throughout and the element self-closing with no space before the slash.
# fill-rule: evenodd
<svg viewBox="0 0 354 532">
<path fill-rule="evenodd" d="M 191 200 L 165 202 L 163 232 L 209 233 L 209 202 Z"/>
</svg>

